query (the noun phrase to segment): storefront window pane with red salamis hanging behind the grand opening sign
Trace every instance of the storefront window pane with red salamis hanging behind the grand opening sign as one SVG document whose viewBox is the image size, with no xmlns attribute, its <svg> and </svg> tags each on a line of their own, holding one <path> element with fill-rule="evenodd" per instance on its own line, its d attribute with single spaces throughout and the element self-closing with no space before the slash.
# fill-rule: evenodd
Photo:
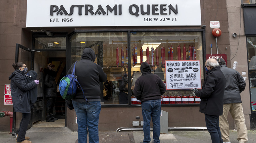
<svg viewBox="0 0 256 143">
<path fill-rule="evenodd" d="M 165 61 L 166 60 L 200 60 L 201 68 L 201 80 L 203 80 L 203 40 L 202 32 L 132 32 L 131 33 L 131 48 L 133 51 L 137 48 L 137 64 L 131 62 L 132 71 L 132 86 L 135 84 L 136 78 L 141 75 L 140 63 L 147 61 L 152 67 L 152 73 L 157 74 L 165 82 Z M 178 52 L 178 46 L 180 46 L 180 53 Z M 183 47 L 184 52 L 183 52 Z M 194 48 L 194 49 L 193 49 Z M 171 50 L 173 49 L 173 50 Z M 195 52 L 191 52 L 194 51 Z M 142 51 L 142 53 L 141 53 Z M 154 63 L 152 64 L 152 51 L 154 54 Z M 169 53 L 168 53 L 169 52 Z M 171 55 L 172 52 L 172 55 Z M 133 52 L 135 53 L 135 52 Z M 192 55 L 195 54 L 195 55 Z M 191 55 L 190 55 L 191 54 Z M 134 56 L 135 54 L 133 54 Z M 131 55 L 132 56 L 132 55 Z M 141 58 L 143 56 L 143 58 Z M 147 59 L 147 57 L 149 58 Z M 133 58 L 133 60 L 136 58 Z M 143 60 L 143 61 L 141 61 Z M 134 76 L 133 76 L 134 75 Z M 203 82 L 201 82 L 203 83 Z M 188 98 L 188 96 L 193 95 L 192 90 L 166 90 L 162 95 L 164 98 L 171 98 L 175 96 L 176 98 L 180 95 Z M 191 96 L 191 97 L 192 97 Z M 166 100 L 167 101 L 167 100 Z M 171 103 L 164 102 L 164 103 Z M 182 103 L 182 102 L 181 102 Z M 189 103 L 189 102 L 183 102 Z M 190 102 L 192 103 L 192 102 Z"/>
</svg>

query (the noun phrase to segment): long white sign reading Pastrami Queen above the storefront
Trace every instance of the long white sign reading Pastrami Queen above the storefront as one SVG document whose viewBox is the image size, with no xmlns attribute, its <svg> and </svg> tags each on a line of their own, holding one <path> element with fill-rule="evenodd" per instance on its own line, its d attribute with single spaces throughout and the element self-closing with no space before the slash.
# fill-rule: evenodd
<svg viewBox="0 0 256 143">
<path fill-rule="evenodd" d="M 200 0 L 27 0 L 27 27 L 201 25 Z"/>
</svg>

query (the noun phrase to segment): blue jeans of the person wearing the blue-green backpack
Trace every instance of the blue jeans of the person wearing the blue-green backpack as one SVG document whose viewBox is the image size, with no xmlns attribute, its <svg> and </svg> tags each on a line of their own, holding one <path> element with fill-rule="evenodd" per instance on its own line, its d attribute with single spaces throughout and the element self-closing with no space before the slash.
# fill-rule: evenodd
<svg viewBox="0 0 256 143">
<path fill-rule="evenodd" d="M 88 103 L 73 101 L 73 106 L 75 109 L 78 124 L 78 143 L 87 143 L 87 128 L 89 132 L 89 143 L 98 143 L 98 124 L 99 113 L 101 110 L 100 101 Z"/>
</svg>

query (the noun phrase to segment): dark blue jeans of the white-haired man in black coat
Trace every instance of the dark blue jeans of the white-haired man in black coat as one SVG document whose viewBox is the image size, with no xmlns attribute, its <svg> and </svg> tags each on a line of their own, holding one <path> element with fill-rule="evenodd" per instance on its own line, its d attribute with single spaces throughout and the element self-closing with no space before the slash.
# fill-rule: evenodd
<svg viewBox="0 0 256 143">
<path fill-rule="evenodd" d="M 219 125 L 219 116 L 204 114 L 204 117 L 207 130 L 211 135 L 212 143 L 223 143 Z"/>
</svg>

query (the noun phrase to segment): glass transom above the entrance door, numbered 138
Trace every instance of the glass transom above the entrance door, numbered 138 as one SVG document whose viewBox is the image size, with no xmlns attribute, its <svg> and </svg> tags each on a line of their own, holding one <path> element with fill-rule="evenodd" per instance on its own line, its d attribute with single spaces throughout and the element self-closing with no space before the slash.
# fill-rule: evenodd
<svg viewBox="0 0 256 143">
<path fill-rule="evenodd" d="M 66 49 L 66 37 L 35 38 L 35 49 Z"/>
</svg>

